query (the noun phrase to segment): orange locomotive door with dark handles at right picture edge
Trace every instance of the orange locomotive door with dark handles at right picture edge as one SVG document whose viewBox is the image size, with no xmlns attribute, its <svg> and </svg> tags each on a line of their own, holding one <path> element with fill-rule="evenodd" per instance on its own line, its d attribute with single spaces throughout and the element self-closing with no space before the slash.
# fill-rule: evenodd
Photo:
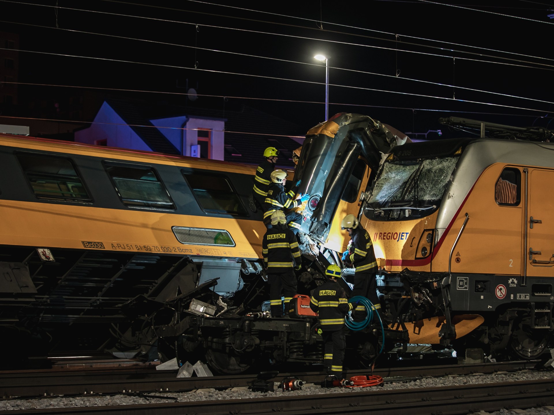
<svg viewBox="0 0 554 415">
<path fill-rule="evenodd" d="M 552 277 L 554 271 L 554 171 L 529 169 L 527 276 Z"/>
</svg>

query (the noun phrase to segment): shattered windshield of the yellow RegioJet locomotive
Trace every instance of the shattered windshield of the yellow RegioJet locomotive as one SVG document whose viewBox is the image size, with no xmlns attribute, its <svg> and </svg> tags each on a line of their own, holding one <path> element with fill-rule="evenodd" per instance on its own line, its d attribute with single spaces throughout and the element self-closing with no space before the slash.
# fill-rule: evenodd
<svg viewBox="0 0 554 415">
<path fill-rule="evenodd" d="M 369 203 L 374 208 L 383 208 L 391 204 L 418 207 L 425 206 L 425 201 L 440 201 L 456 162 L 458 157 L 387 163 Z"/>
</svg>

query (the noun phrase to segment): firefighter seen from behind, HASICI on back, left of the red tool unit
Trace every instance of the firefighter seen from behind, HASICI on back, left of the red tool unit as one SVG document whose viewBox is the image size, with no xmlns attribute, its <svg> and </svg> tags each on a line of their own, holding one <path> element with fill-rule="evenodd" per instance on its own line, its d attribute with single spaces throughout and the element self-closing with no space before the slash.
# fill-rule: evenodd
<svg viewBox="0 0 554 415">
<path fill-rule="evenodd" d="M 300 269 L 300 250 L 296 236 L 286 226 L 283 212 L 273 212 L 271 225 L 271 229 L 265 232 L 261 252 L 269 282 L 271 317 L 283 317 L 281 292 L 285 297 L 285 314 L 288 314 L 289 302 L 296 295 L 294 269 Z"/>
</svg>

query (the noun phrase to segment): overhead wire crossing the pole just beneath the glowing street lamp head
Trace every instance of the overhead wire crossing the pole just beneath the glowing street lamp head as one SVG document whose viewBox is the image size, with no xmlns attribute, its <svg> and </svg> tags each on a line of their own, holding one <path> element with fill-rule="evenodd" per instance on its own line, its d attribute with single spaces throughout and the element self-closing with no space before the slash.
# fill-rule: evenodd
<svg viewBox="0 0 554 415">
<path fill-rule="evenodd" d="M 54 29 L 53 27 L 49 27 L 49 26 L 36 25 L 36 24 L 30 24 L 30 23 L 20 23 L 20 22 L 7 22 L 6 20 L 0 20 L 0 23 L 15 23 L 15 24 L 45 28 L 45 29 Z M 310 65 L 310 66 L 320 66 L 320 64 L 315 64 L 315 63 L 312 64 L 312 63 L 309 63 L 309 62 L 300 62 L 300 61 L 294 61 L 294 60 L 288 60 L 288 59 L 272 58 L 270 56 L 252 55 L 252 54 L 245 54 L 245 53 L 239 53 L 239 52 L 225 51 L 225 50 L 220 50 L 220 49 L 199 48 L 197 46 L 182 45 L 182 44 L 170 43 L 170 42 L 160 42 L 160 41 L 157 41 L 157 40 L 150 40 L 150 39 L 131 38 L 131 37 L 121 36 L 121 35 L 111 35 L 111 34 L 106 34 L 106 33 L 86 32 L 84 30 L 64 29 L 64 28 L 57 29 L 57 30 L 64 30 L 64 31 L 72 32 L 72 33 L 84 33 L 84 34 L 92 34 L 92 35 L 98 35 L 98 36 L 106 36 L 106 37 L 118 38 L 118 39 L 136 40 L 136 41 L 139 41 L 139 42 L 148 42 L 148 43 L 155 43 L 155 44 L 160 44 L 160 45 L 179 46 L 179 47 L 183 47 L 183 48 L 192 48 L 192 49 L 199 49 L 199 50 L 205 50 L 205 51 L 213 51 L 213 52 L 217 52 L 217 53 L 227 53 L 227 54 L 233 54 L 233 55 L 238 55 L 238 56 L 245 56 L 245 57 L 249 57 L 249 58 L 268 59 L 268 60 L 274 60 L 274 61 L 281 61 L 281 62 L 285 62 L 285 63 L 294 63 L 294 64 Z M 4 48 L 0 48 L 0 49 L 4 49 Z M 196 61 L 196 59 L 195 59 L 195 61 Z M 329 68 L 334 69 L 334 70 L 355 72 L 355 73 L 358 73 L 358 74 L 365 74 L 365 75 L 375 75 L 375 76 L 383 76 L 383 77 L 389 77 L 389 78 L 398 77 L 398 75 L 387 75 L 387 74 L 379 74 L 378 72 L 362 71 L 362 70 L 357 70 L 357 69 L 338 68 L 337 66 L 330 66 Z M 198 69 L 197 66 L 194 66 L 194 69 Z M 444 87 L 454 88 L 454 85 L 443 84 L 441 82 L 425 81 L 425 80 L 407 78 L 407 77 L 402 77 L 401 79 L 407 80 L 407 81 L 413 81 L 413 82 L 422 82 L 424 84 L 429 84 L 429 85 L 437 85 L 437 86 L 444 86 Z M 499 96 L 510 97 L 510 98 L 518 98 L 518 99 L 522 99 L 522 100 L 529 100 L 529 101 L 535 101 L 535 102 L 553 103 L 554 104 L 554 102 L 552 102 L 552 101 L 538 100 L 536 98 L 529 98 L 529 97 L 523 97 L 523 96 L 517 96 L 517 95 L 511 95 L 511 94 L 502 94 L 501 92 L 486 91 L 486 90 L 480 90 L 480 89 L 476 89 L 476 88 L 469 88 L 469 87 L 463 87 L 463 86 L 456 86 L 455 88 L 459 89 L 459 90 L 466 90 L 466 91 L 473 91 L 473 92 L 483 92 L 484 94 L 493 94 L 493 95 L 499 95 Z"/>
</svg>

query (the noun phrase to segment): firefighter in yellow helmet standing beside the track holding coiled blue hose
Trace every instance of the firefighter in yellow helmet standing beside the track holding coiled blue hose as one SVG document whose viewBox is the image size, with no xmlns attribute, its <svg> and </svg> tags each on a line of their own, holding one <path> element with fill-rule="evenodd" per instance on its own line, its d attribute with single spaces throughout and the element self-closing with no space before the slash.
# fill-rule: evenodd
<svg viewBox="0 0 554 415">
<path fill-rule="evenodd" d="M 345 357 L 346 332 L 345 315 L 352 309 L 346 293 L 338 285 L 336 279 L 341 278 L 341 268 L 335 264 L 327 267 L 325 275 L 329 278 L 325 284 L 314 289 L 310 308 L 319 313 L 322 336 L 325 342 L 324 365 L 327 373 L 336 375 L 339 380 L 342 375 L 342 361 Z"/>
</svg>

